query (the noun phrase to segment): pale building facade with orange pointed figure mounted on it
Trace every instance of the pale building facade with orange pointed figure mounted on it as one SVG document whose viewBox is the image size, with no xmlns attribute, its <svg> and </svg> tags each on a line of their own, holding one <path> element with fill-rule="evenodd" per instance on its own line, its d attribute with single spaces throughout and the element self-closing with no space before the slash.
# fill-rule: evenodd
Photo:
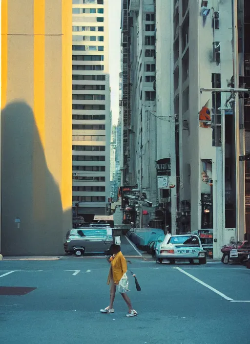
<svg viewBox="0 0 250 344">
<path fill-rule="evenodd" d="M 173 11 L 178 225 L 213 229 L 214 257 L 220 257 L 220 247 L 235 237 L 235 128 L 229 95 L 212 89 L 229 87 L 233 76 L 233 8 L 179 0 Z"/>
</svg>

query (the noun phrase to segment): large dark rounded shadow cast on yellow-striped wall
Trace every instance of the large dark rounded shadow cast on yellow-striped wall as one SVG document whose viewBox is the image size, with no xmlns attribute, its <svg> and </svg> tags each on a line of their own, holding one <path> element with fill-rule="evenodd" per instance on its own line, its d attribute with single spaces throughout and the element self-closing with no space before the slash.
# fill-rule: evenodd
<svg viewBox="0 0 250 344">
<path fill-rule="evenodd" d="M 25 102 L 10 103 L 2 110 L 1 122 L 1 253 L 61 255 L 62 224 L 70 215 L 63 214 L 33 111 Z"/>
</svg>

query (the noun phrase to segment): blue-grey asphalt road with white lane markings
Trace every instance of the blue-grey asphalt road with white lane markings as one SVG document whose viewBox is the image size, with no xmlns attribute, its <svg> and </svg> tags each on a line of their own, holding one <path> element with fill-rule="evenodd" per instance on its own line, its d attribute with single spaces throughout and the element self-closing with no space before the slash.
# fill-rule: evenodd
<svg viewBox="0 0 250 344">
<path fill-rule="evenodd" d="M 250 343 L 250 302 L 233 302 L 250 301 L 249 269 L 129 260 L 142 287 L 137 292 L 129 276 L 139 313 L 130 319 L 120 295 L 114 314 L 99 312 L 109 303 L 105 258 L 0 261 L 0 287 L 36 288 L 0 295 L 0 343 Z"/>
</svg>

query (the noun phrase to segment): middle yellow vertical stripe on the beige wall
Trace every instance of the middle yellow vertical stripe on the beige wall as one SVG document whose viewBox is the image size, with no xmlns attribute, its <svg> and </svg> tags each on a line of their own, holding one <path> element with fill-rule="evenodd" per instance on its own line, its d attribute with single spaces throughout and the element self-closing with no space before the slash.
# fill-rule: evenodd
<svg viewBox="0 0 250 344">
<path fill-rule="evenodd" d="M 45 0 L 34 0 L 34 118 L 45 146 Z"/>
</svg>

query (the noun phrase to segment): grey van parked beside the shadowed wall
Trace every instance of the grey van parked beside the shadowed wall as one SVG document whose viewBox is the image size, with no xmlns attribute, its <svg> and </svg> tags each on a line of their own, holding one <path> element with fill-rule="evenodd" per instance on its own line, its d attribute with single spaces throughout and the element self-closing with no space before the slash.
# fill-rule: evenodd
<svg viewBox="0 0 250 344">
<path fill-rule="evenodd" d="M 113 243 L 111 228 L 77 228 L 67 232 L 64 251 L 76 256 L 84 253 L 104 254 Z"/>
</svg>

